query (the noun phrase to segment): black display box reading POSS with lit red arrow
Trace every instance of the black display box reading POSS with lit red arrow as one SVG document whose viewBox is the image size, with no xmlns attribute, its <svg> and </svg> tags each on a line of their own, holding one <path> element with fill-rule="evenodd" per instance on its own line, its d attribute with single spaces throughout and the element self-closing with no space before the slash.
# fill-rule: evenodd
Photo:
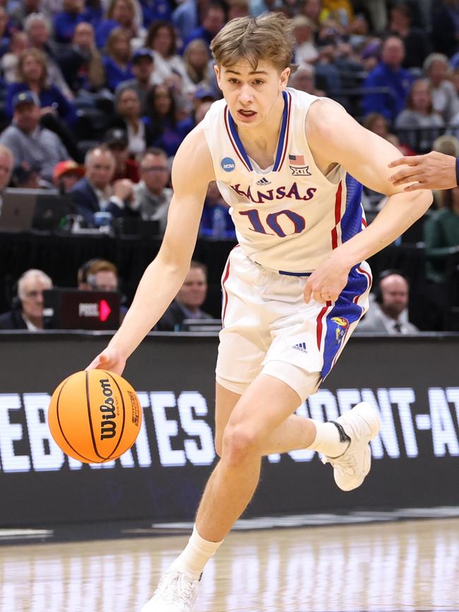
<svg viewBox="0 0 459 612">
<path fill-rule="evenodd" d="M 117 330 L 119 294 L 112 291 L 49 289 L 43 292 L 47 330 Z"/>
</svg>

